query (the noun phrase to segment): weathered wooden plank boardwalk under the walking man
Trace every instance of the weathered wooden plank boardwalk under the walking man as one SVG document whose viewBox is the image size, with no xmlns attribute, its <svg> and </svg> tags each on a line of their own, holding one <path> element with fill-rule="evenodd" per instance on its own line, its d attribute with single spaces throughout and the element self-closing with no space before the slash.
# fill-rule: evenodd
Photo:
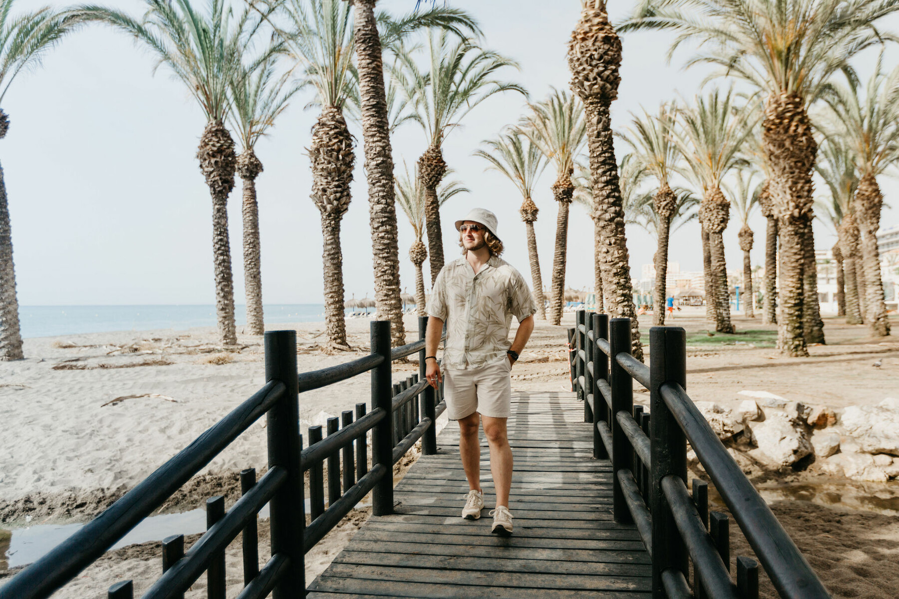
<svg viewBox="0 0 899 599">
<path fill-rule="evenodd" d="M 649 597 L 650 560 L 633 525 L 611 514 L 611 465 L 592 459 L 591 425 L 574 393 L 516 393 L 510 538 L 490 533 L 495 495 L 481 433 L 485 510 L 459 517 L 468 487 L 458 427 L 437 455 L 396 485 L 396 514 L 372 516 L 309 586 L 313 599 L 351 597 Z"/>
</svg>

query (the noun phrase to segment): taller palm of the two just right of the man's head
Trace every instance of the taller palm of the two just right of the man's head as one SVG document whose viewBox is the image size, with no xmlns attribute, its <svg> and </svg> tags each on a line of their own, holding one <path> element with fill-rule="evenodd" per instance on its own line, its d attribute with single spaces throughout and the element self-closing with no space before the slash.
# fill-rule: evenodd
<svg viewBox="0 0 899 599">
<path fill-rule="evenodd" d="M 553 89 L 549 97 L 529 104 L 530 112 L 521 119 L 519 128 L 530 142 L 556 164 L 553 197 L 558 202 L 556 217 L 556 251 L 550 283 L 549 320 L 562 320 L 565 304 L 565 259 L 568 251 L 568 209 L 574 196 L 574 155 L 583 147 L 587 133 L 583 119 L 583 103 L 574 95 Z"/>
</svg>

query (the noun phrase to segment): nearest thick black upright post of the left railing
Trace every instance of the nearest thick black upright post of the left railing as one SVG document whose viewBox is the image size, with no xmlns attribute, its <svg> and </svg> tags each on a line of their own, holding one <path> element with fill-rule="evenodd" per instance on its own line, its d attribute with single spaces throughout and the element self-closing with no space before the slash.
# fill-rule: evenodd
<svg viewBox="0 0 899 599">
<path fill-rule="evenodd" d="M 269 469 L 280 466 L 288 477 L 269 502 L 271 555 L 281 553 L 289 568 L 275 586 L 273 599 L 306 596 L 306 563 L 303 551 L 301 512 L 303 471 L 299 462 L 299 383 L 297 372 L 297 331 L 270 330 L 265 333 L 265 381 L 280 381 L 287 387 L 284 398 L 265 416 L 268 432 Z"/>
</svg>

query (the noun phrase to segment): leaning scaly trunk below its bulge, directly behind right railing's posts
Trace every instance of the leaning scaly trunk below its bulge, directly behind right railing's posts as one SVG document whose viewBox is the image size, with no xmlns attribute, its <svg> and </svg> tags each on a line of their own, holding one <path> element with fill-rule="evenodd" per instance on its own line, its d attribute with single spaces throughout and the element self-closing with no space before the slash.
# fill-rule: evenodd
<svg viewBox="0 0 899 599">
<path fill-rule="evenodd" d="M 618 163 L 615 162 L 615 148 L 612 145 L 609 103 L 591 100 L 586 102 L 585 108 L 593 207 L 599 215 L 597 225 L 603 241 L 600 249 L 602 295 L 610 318 L 631 319 L 633 354 L 642 360 L 643 345 L 640 343 L 640 325 L 636 320 L 630 280 L 628 240 L 624 229 Z"/>
</svg>

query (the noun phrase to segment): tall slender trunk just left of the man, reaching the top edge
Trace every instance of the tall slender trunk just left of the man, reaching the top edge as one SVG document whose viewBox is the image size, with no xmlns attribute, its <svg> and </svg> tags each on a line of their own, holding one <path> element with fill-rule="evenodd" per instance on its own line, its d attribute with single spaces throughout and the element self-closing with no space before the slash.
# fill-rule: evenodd
<svg viewBox="0 0 899 599">
<path fill-rule="evenodd" d="M 394 347 L 405 344 L 403 310 L 399 290 L 399 245 L 396 240 L 393 154 L 384 65 L 375 18 L 376 0 L 353 0 L 357 69 L 361 99 L 362 138 L 365 142 L 365 172 L 369 180 L 369 220 L 374 260 L 375 301 L 378 319 L 391 322 Z"/>
</svg>

